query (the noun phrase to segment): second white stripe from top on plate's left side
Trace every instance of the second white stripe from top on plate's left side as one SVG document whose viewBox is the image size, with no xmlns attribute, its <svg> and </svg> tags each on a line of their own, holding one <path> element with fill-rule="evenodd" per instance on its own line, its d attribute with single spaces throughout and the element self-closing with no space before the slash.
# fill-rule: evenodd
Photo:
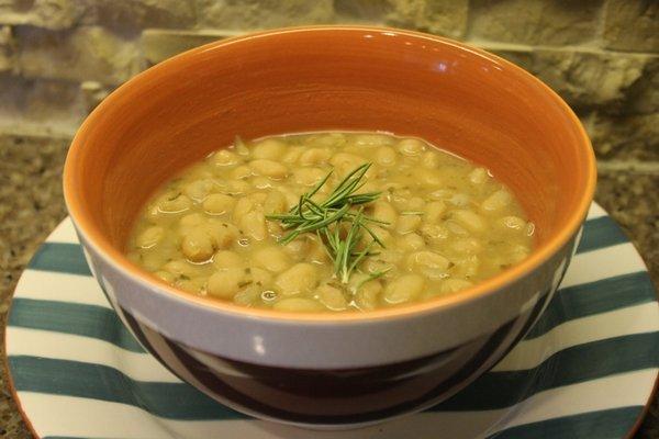
<svg viewBox="0 0 659 439">
<path fill-rule="evenodd" d="M 15 296 L 110 307 L 94 278 L 54 271 L 25 270 Z"/>
</svg>

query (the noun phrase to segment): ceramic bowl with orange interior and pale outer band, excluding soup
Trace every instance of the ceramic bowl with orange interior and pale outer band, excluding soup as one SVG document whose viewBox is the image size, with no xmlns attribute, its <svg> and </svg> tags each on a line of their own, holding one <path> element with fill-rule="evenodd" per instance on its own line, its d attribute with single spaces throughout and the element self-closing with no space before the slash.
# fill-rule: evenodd
<svg viewBox="0 0 659 439">
<path fill-rule="evenodd" d="M 192 296 L 125 258 L 139 207 L 182 167 L 236 134 L 330 130 L 418 136 L 488 167 L 535 222 L 535 250 L 454 295 L 345 314 Z M 142 345 L 222 404 L 314 428 L 421 410 L 491 368 L 556 291 L 594 184 L 579 120 L 529 74 L 437 36 L 356 26 L 221 41 L 146 70 L 82 124 L 64 176 L 94 277 Z"/>
</svg>

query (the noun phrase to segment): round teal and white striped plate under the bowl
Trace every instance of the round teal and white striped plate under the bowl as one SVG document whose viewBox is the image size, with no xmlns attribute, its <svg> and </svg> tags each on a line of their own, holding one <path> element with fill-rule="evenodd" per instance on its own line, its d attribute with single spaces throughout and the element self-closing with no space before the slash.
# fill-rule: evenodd
<svg viewBox="0 0 659 439">
<path fill-rule="evenodd" d="M 659 307 L 646 268 L 594 205 L 562 286 L 492 371 L 424 413 L 310 432 L 219 405 L 135 342 L 91 278 L 70 221 L 25 270 L 7 351 L 40 438 L 623 438 L 659 371 Z"/>
</svg>

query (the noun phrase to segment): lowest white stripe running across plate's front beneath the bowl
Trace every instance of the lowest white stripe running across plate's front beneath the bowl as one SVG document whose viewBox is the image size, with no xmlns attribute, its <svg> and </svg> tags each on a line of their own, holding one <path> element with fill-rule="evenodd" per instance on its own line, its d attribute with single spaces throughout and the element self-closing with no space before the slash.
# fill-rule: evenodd
<svg viewBox="0 0 659 439">
<path fill-rule="evenodd" d="M 505 428 L 589 412 L 645 405 L 657 369 L 613 375 L 538 393 L 516 406 L 484 412 L 437 412 L 406 416 L 387 424 L 346 431 L 310 431 L 256 420 L 182 421 L 154 417 L 141 408 L 70 396 L 20 392 L 23 409 L 41 437 L 121 437 L 125 439 L 226 437 L 241 439 L 451 439 L 485 436 Z M 85 416 L 80 416 L 85 414 Z"/>
</svg>

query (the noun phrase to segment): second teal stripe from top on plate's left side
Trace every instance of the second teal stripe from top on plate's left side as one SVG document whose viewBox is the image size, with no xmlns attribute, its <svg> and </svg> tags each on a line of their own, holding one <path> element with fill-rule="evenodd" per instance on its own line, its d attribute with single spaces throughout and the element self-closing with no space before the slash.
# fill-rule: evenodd
<svg viewBox="0 0 659 439">
<path fill-rule="evenodd" d="M 97 305 L 15 297 L 9 326 L 91 337 L 144 352 L 114 311 Z"/>
</svg>

